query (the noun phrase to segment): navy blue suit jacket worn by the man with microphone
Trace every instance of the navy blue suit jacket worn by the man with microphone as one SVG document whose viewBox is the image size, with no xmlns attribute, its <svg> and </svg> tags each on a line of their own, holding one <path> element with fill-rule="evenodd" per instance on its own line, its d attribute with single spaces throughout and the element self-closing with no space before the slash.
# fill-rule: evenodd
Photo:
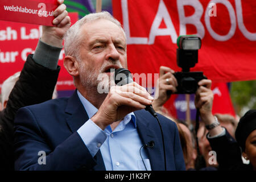
<svg viewBox="0 0 256 182">
<path fill-rule="evenodd" d="M 152 170 L 164 170 L 162 136 L 158 122 L 145 110 L 134 112 L 142 143 L 154 141 L 147 148 Z M 77 92 L 69 98 L 50 100 L 23 107 L 15 118 L 16 170 L 105 170 L 99 150 L 92 157 L 77 130 L 88 121 Z M 179 133 L 174 122 L 159 115 L 163 128 L 167 170 L 185 170 Z M 46 164 L 43 153 L 46 152 Z M 41 161 L 41 164 L 38 163 Z"/>
</svg>

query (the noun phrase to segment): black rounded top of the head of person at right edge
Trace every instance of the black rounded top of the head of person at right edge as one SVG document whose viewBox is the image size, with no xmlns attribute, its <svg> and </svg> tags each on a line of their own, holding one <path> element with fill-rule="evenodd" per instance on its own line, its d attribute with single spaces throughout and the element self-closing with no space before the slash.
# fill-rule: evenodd
<svg viewBox="0 0 256 182">
<path fill-rule="evenodd" d="M 256 130 L 256 109 L 247 111 L 237 125 L 236 140 L 243 152 L 245 151 L 246 138 L 254 130 Z"/>
</svg>

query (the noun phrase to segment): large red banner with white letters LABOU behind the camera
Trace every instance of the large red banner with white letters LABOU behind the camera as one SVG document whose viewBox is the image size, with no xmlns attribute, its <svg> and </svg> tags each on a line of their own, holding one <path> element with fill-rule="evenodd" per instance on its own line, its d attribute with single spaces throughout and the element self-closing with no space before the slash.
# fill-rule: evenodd
<svg viewBox="0 0 256 182">
<path fill-rule="evenodd" d="M 202 40 L 199 61 L 214 82 L 256 79 L 255 0 L 113 0 L 113 15 L 127 36 L 132 73 L 158 73 L 176 64 L 176 40 L 196 34 Z"/>
</svg>

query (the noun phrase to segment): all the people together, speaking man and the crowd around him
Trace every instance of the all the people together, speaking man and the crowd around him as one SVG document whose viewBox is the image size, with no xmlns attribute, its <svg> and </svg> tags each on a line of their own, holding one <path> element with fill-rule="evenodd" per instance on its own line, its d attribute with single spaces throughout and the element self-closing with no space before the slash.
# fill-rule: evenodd
<svg viewBox="0 0 256 182">
<path fill-rule="evenodd" d="M 110 69 L 127 69 L 125 32 L 107 12 L 86 15 L 70 27 L 65 9 L 59 1 L 56 26 L 43 26 L 34 55 L 3 84 L 1 170 L 256 170 L 256 110 L 239 122 L 228 114 L 213 115 L 212 81 L 201 80 L 195 133 L 164 108 L 177 80 L 163 66 L 155 99 L 136 82 L 99 93 L 98 75 L 110 78 L 103 85 L 112 85 Z M 76 90 L 56 98 L 63 39 L 64 67 Z M 159 123 L 145 110 L 150 105 Z"/>
</svg>

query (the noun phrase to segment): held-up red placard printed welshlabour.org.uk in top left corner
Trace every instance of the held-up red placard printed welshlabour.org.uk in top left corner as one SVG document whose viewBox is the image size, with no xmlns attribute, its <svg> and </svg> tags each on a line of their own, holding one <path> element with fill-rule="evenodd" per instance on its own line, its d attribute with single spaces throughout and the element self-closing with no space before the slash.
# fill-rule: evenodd
<svg viewBox="0 0 256 182">
<path fill-rule="evenodd" d="M 53 26 L 57 0 L 1 0 L 0 19 Z"/>
</svg>

